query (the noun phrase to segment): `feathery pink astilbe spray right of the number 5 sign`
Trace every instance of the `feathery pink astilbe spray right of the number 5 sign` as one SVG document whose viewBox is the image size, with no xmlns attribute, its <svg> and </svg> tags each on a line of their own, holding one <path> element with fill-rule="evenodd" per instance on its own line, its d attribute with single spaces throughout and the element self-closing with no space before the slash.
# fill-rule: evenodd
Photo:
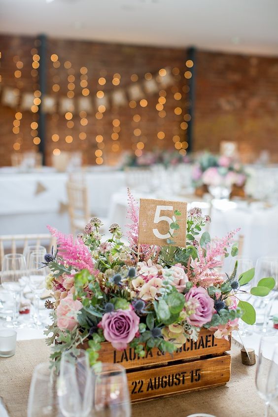
<svg viewBox="0 0 278 417">
<path fill-rule="evenodd" d="M 221 274 L 213 271 L 214 268 L 220 268 L 223 265 L 223 257 L 226 253 L 226 248 L 232 243 L 232 240 L 236 233 L 240 229 L 236 229 L 222 239 L 215 239 L 213 243 L 208 244 L 206 249 L 206 255 L 204 255 L 201 246 L 198 247 L 199 259 L 194 259 L 191 262 L 194 278 L 193 283 L 197 283 L 202 280 L 202 286 L 209 286 L 212 283 L 220 283 L 223 278 Z"/>
</svg>

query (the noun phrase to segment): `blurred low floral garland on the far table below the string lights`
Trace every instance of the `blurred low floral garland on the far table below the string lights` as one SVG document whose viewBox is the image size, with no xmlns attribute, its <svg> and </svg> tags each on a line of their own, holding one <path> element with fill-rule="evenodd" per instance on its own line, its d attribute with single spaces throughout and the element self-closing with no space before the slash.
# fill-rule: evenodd
<svg viewBox="0 0 278 417">
<path fill-rule="evenodd" d="M 166 168 L 177 164 L 190 163 L 188 155 L 181 155 L 178 151 L 154 150 L 142 151 L 141 156 L 134 153 L 127 153 L 124 157 L 123 168 L 125 167 L 151 167 L 153 165 L 163 165 Z"/>
</svg>

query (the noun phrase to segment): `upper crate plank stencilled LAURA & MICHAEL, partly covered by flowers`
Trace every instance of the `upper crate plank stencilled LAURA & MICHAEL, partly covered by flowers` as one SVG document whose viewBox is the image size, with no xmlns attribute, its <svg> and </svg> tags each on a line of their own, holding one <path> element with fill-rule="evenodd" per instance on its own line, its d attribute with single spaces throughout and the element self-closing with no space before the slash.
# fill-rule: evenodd
<svg viewBox="0 0 278 417">
<path fill-rule="evenodd" d="M 85 347 L 85 346 L 84 346 Z M 119 363 L 126 369 L 136 369 L 142 366 L 157 365 L 163 362 L 173 362 L 183 359 L 198 358 L 206 355 L 221 355 L 231 348 L 231 339 L 216 339 L 213 332 L 202 329 L 197 342 L 189 339 L 174 354 L 161 353 L 153 348 L 145 357 L 140 358 L 133 348 L 115 350 L 110 343 L 104 342 L 100 350 L 99 359 L 102 362 Z"/>
</svg>

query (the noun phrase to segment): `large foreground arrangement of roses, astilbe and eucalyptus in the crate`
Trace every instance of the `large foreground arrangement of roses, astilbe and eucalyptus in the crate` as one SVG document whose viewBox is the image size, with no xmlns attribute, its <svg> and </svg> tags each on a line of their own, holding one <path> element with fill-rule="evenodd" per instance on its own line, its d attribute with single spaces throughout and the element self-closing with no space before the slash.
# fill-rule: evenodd
<svg viewBox="0 0 278 417">
<path fill-rule="evenodd" d="M 75 241 L 49 227 L 58 249 L 45 255 L 44 266 L 51 270 L 46 287 L 55 298 L 46 302 L 53 324 L 45 334 L 49 345 L 58 342 L 51 354 L 56 364 L 65 349 L 76 350 L 85 341 L 93 364 L 104 341 L 115 349 L 134 348 L 143 357 L 154 347 L 174 352 L 186 339 L 197 340 L 202 327 L 227 338 L 238 329 L 240 317 L 255 322 L 254 308 L 238 299 L 254 269 L 239 279 L 237 263 L 231 276 L 217 271 L 221 257 L 237 254 L 232 243 L 237 231 L 212 243 L 208 232 L 201 234 L 209 216 L 193 208 L 188 212 L 187 246 L 174 246 L 181 214 L 175 210 L 170 245 L 143 244 L 138 253 L 139 208 L 129 191 L 128 196 L 129 244 L 122 242 L 117 224 L 110 226 L 111 238 L 102 242 L 96 217 Z M 263 278 L 251 293 L 267 295 L 274 284 L 273 278 Z"/>
</svg>

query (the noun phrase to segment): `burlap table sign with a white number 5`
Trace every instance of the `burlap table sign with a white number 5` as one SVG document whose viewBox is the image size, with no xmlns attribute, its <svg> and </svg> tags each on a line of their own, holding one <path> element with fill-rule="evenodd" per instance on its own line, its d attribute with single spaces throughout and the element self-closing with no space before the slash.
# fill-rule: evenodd
<svg viewBox="0 0 278 417">
<path fill-rule="evenodd" d="M 180 212 L 174 216 L 174 211 Z M 185 247 L 186 244 L 187 203 L 181 201 L 140 199 L 139 209 L 139 244 L 169 245 L 170 225 L 178 220 L 179 229 L 174 232 L 174 246 Z"/>
</svg>

